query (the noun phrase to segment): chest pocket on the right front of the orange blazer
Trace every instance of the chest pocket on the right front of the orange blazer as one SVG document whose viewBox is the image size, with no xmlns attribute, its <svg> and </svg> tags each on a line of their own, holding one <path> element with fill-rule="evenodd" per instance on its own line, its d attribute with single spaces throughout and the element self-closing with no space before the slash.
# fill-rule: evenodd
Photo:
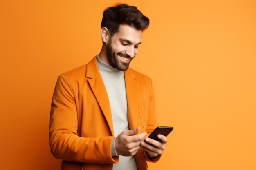
<svg viewBox="0 0 256 170">
<path fill-rule="evenodd" d="M 139 105 L 138 105 L 139 119 L 141 121 L 141 125 L 143 128 L 147 128 L 147 125 L 148 125 L 148 105 L 149 105 L 148 100 L 139 102 Z"/>
</svg>

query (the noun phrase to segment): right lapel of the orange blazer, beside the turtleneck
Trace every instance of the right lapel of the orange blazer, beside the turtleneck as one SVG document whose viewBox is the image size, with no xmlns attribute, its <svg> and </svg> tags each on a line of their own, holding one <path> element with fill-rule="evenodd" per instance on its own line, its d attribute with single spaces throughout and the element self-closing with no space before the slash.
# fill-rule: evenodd
<svg viewBox="0 0 256 170">
<path fill-rule="evenodd" d="M 128 122 L 130 129 L 136 129 L 138 103 L 139 103 L 139 86 L 135 75 L 130 68 L 124 72 L 125 84 L 126 84 L 126 96 L 128 105 Z"/>
</svg>

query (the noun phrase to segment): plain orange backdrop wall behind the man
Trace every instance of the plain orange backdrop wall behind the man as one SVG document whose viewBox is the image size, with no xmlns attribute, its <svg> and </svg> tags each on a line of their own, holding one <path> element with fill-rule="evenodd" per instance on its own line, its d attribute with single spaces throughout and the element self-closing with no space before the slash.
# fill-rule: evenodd
<svg viewBox="0 0 256 170">
<path fill-rule="evenodd" d="M 0 1 L 1 169 L 60 169 L 48 142 L 56 79 L 99 53 L 115 2 Z M 256 2 L 126 3 L 150 18 L 130 66 L 153 79 L 159 125 L 174 127 L 149 170 L 255 170 Z"/>
</svg>

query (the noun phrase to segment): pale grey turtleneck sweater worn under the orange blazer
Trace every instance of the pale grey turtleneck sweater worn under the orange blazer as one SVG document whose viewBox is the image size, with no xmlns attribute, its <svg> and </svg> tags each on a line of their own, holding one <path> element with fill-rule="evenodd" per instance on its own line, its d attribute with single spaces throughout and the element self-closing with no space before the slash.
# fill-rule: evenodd
<svg viewBox="0 0 256 170">
<path fill-rule="evenodd" d="M 114 136 L 117 137 L 124 130 L 129 130 L 124 71 L 102 62 L 99 55 L 97 56 L 97 65 L 108 93 Z M 112 156 L 118 156 L 114 144 L 115 140 L 112 142 Z M 113 170 L 137 170 L 135 157 L 119 155 L 119 163 L 114 164 Z"/>
</svg>

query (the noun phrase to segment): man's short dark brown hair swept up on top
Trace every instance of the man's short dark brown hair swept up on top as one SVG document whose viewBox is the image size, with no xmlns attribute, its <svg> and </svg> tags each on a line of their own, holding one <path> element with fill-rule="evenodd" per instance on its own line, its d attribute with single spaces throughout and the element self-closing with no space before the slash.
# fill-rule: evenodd
<svg viewBox="0 0 256 170">
<path fill-rule="evenodd" d="M 103 12 L 101 28 L 106 27 L 112 37 L 118 30 L 120 24 L 127 24 L 137 30 L 144 30 L 149 26 L 148 17 L 144 16 L 135 6 L 117 4 L 108 7 Z"/>
</svg>

